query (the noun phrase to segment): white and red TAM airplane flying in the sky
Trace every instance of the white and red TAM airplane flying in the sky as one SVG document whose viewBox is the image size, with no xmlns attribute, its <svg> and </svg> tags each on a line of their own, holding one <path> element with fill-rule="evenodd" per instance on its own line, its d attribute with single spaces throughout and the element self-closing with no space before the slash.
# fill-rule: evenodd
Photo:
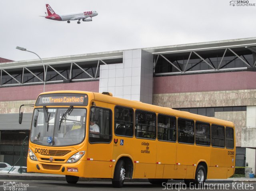
<svg viewBox="0 0 256 191">
<path fill-rule="evenodd" d="M 85 22 L 92 21 L 92 17 L 98 15 L 96 11 L 56 14 L 49 4 L 46 4 L 46 9 L 47 13 L 45 12 L 46 16 L 43 16 L 44 18 L 57 21 L 67 21 L 68 23 L 73 20 L 78 20 L 77 24 L 80 24 L 80 20 Z"/>
</svg>

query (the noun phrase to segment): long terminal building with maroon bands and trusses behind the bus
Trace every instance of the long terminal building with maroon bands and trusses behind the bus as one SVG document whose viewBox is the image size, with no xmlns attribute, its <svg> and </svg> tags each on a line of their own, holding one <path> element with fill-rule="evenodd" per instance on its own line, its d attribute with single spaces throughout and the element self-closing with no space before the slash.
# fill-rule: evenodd
<svg viewBox="0 0 256 191">
<path fill-rule="evenodd" d="M 18 160 L 33 110 L 22 109 L 20 125 L 19 107 L 34 104 L 45 84 L 232 121 L 236 166 L 256 171 L 256 37 L 44 58 L 45 73 L 40 59 L 2 60 L 0 162 Z"/>
</svg>

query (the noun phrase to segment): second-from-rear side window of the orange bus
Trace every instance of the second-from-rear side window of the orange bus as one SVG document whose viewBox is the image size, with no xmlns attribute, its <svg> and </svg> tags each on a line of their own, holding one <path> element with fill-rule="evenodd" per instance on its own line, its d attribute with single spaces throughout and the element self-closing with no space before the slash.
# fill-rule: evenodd
<svg viewBox="0 0 256 191">
<path fill-rule="evenodd" d="M 212 146 L 225 147 L 225 128 L 224 126 L 214 125 L 211 127 L 212 132 Z"/>
</svg>

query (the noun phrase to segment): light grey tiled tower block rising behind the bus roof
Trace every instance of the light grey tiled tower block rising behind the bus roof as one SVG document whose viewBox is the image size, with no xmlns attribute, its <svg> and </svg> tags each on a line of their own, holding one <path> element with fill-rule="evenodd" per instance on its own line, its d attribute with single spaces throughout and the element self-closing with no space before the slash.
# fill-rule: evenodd
<svg viewBox="0 0 256 191">
<path fill-rule="evenodd" d="M 100 66 L 99 92 L 152 104 L 153 55 L 141 49 L 124 51 L 123 63 Z"/>
</svg>

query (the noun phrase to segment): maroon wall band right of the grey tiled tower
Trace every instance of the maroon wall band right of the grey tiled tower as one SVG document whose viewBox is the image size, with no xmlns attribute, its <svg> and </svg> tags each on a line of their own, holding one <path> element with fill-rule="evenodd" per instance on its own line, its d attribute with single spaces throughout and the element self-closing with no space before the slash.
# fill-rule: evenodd
<svg viewBox="0 0 256 191">
<path fill-rule="evenodd" d="M 154 94 L 256 89 L 256 72 L 154 77 Z"/>
</svg>

